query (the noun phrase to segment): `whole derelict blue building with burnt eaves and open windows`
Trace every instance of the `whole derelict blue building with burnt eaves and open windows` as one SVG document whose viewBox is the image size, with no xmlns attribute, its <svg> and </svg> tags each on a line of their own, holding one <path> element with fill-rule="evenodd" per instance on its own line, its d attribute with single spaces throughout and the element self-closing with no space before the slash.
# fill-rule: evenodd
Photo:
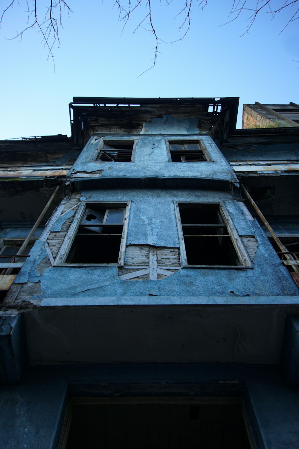
<svg viewBox="0 0 299 449">
<path fill-rule="evenodd" d="M 0 446 L 298 449 L 299 106 L 69 112 L 0 142 Z"/>
</svg>

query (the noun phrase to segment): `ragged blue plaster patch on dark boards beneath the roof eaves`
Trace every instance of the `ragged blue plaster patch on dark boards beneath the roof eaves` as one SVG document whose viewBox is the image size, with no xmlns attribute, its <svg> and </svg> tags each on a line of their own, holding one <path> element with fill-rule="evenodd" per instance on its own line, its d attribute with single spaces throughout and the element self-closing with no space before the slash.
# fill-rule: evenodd
<svg viewBox="0 0 299 449">
<path fill-rule="evenodd" d="M 171 115 L 144 122 L 140 134 L 199 134 L 198 119 L 174 119 Z"/>
</svg>

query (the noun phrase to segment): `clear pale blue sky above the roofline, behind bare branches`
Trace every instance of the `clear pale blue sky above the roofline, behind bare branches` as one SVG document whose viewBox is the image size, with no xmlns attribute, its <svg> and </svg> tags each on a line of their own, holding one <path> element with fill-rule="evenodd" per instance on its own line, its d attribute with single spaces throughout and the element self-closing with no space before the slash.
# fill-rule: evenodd
<svg viewBox="0 0 299 449">
<path fill-rule="evenodd" d="M 121 35 L 113 3 L 69 0 L 74 12 L 63 19 L 61 46 L 54 49 L 55 72 L 36 31 L 27 32 L 22 40 L 5 39 L 22 29 L 22 0 L 21 7 L 9 11 L 0 29 L 0 139 L 69 136 L 68 104 L 73 96 L 240 97 L 239 128 L 243 103 L 299 103 L 299 62 L 294 62 L 299 60 L 299 21 L 279 35 L 286 12 L 273 20 L 261 14 L 249 34 L 239 37 L 246 31 L 248 13 L 220 26 L 227 21 L 232 0 L 208 0 L 204 10 L 193 5 L 190 31 L 184 40 L 171 44 L 182 35 L 181 18 L 173 19 L 182 2 L 173 0 L 161 7 L 160 1 L 152 0 L 153 24 L 164 42 L 156 67 L 139 76 L 152 64 L 153 36 L 143 29 L 133 34 L 143 8 Z"/>
</svg>

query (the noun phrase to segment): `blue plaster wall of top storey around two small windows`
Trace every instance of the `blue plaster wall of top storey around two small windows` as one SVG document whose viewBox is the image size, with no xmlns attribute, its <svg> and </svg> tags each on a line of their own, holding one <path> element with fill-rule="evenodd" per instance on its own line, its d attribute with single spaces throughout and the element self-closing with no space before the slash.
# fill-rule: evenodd
<svg viewBox="0 0 299 449">
<path fill-rule="evenodd" d="M 187 137 L 181 134 L 130 136 L 130 140 L 138 139 L 134 162 L 95 161 L 94 159 L 103 145 L 103 140 L 114 139 L 128 140 L 128 136 L 91 137 L 68 176 L 71 179 L 87 177 L 88 174 L 89 177 L 100 176 L 101 178 L 210 178 L 236 181 L 234 171 L 210 136 L 190 134 Z M 198 163 L 169 162 L 167 140 L 186 141 L 186 139 L 195 141 L 201 139 L 212 161 Z"/>
</svg>

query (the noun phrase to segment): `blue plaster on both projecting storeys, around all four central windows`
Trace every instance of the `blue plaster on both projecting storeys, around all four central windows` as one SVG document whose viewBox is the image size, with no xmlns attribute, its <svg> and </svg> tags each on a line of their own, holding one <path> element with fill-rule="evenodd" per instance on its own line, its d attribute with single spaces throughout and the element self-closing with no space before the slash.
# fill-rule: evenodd
<svg viewBox="0 0 299 449">
<path fill-rule="evenodd" d="M 160 122 L 159 122 L 160 123 Z M 155 128 L 154 130 L 157 130 Z M 160 131 L 159 131 L 160 132 Z M 181 130 L 179 131 L 181 132 Z M 82 179 L 83 174 L 107 178 L 178 177 L 209 178 L 237 182 L 234 172 L 217 145 L 207 135 L 188 135 L 202 139 L 212 162 L 172 163 L 167 152 L 168 140 L 186 140 L 186 134 L 146 134 L 130 136 L 138 139 L 134 162 L 108 163 L 95 161 L 103 140 L 128 139 L 128 136 L 91 137 L 69 173 L 69 180 Z M 101 170 L 100 174 L 98 171 Z M 117 265 L 105 267 L 51 267 L 39 273 L 39 263 L 48 256 L 43 242 L 37 242 L 16 283 L 40 282 L 40 293 L 31 298 L 67 298 L 101 296 L 275 296 L 298 295 L 299 290 L 281 264 L 273 247 L 256 220 L 244 215 L 230 192 L 202 189 L 89 189 L 82 190 L 87 202 L 131 201 L 126 245 L 179 247 L 174 202 L 223 202 L 240 236 L 255 236 L 258 249 L 249 269 L 181 269 L 158 281 L 125 281 L 117 277 Z M 73 216 L 74 211 L 57 217 L 52 230 Z M 220 281 L 221 279 L 221 281 Z M 30 297 L 28 298 L 30 299 Z M 84 302 L 83 302 L 84 304 Z"/>
</svg>

